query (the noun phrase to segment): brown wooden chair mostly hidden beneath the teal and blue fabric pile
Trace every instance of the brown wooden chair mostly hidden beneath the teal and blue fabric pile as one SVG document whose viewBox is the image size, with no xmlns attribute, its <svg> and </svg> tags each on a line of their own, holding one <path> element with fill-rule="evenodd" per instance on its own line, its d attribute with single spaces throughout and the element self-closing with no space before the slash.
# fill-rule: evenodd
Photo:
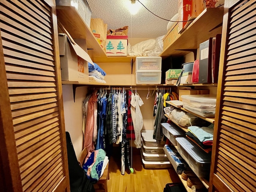
<svg viewBox="0 0 256 192">
<path fill-rule="evenodd" d="M 81 167 L 84 164 L 84 160 L 85 160 L 87 154 L 88 154 L 88 151 L 86 148 L 84 148 L 78 157 L 78 162 Z M 102 188 L 104 189 L 104 191 L 108 192 L 108 180 L 109 180 L 109 172 L 108 172 L 108 164 L 107 164 L 102 177 L 100 177 L 100 179 L 98 180 L 98 182 L 96 184 L 102 185 Z"/>
</svg>

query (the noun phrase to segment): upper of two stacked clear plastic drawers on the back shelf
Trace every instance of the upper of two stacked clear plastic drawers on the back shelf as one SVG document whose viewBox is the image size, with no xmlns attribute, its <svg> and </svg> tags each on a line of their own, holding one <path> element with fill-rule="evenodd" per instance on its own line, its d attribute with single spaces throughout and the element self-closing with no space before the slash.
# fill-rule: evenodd
<svg viewBox="0 0 256 192">
<path fill-rule="evenodd" d="M 162 57 L 136 57 L 135 69 L 137 70 L 161 70 Z"/>
</svg>

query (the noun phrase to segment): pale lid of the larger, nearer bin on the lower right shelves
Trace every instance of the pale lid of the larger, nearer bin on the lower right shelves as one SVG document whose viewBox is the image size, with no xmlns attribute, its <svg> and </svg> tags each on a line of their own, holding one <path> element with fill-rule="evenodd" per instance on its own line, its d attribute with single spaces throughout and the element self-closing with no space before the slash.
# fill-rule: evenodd
<svg viewBox="0 0 256 192">
<path fill-rule="evenodd" d="M 206 153 L 195 143 L 185 137 L 175 138 L 178 144 L 198 163 L 205 164 L 211 162 L 211 154 Z"/>
</svg>

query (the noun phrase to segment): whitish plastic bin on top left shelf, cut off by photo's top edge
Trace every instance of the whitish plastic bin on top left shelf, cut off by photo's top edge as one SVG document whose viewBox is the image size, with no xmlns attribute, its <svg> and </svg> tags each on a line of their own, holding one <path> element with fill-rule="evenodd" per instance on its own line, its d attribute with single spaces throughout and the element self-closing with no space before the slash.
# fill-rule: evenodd
<svg viewBox="0 0 256 192">
<path fill-rule="evenodd" d="M 90 28 L 92 9 L 87 0 L 56 0 L 56 6 L 73 6 L 78 11 L 86 25 Z"/>
</svg>

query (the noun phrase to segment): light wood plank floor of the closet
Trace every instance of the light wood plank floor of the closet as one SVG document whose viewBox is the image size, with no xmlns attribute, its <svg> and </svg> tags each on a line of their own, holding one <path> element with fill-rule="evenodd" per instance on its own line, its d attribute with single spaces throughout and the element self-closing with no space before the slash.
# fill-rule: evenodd
<svg viewBox="0 0 256 192">
<path fill-rule="evenodd" d="M 114 147 L 109 162 L 108 192 L 163 192 L 167 183 L 180 182 L 174 169 L 144 169 L 140 149 L 133 148 L 133 174 L 126 168 L 122 175 L 120 167 L 120 150 Z"/>
</svg>

